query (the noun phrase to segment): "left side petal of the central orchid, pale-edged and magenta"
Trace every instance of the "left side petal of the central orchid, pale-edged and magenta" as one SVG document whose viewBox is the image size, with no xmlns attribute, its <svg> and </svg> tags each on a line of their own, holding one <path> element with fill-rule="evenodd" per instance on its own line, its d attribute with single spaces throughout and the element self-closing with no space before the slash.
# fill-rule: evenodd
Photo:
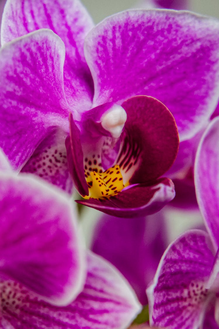
<svg viewBox="0 0 219 329">
<path fill-rule="evenodd" d="M 0 51 L 0 146 L 20 169 L 51 127 L 68 131 L 63 89 L 65 48 L 50 30 L 8 43 Z"/>
</svg>

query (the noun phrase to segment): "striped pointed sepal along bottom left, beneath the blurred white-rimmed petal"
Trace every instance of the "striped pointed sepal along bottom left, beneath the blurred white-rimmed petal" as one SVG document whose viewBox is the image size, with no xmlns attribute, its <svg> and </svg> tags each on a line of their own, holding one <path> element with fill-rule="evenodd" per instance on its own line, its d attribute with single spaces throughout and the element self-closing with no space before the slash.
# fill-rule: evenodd
<svg viewBox="0 0 219 329">
<path fill-rule="evenodd" d="M 2 303 L 3 321 L 10 323 L 4 328 L 30 329 L 34 323 L 34 328 L 47 329 L 123 329 L 141 311 L 119 272 L 92 254 L 84 289 L 66 307 L 51 306 L 13 282 L 3 283 L 1 291 L 9 301 Z"/>
</svg>

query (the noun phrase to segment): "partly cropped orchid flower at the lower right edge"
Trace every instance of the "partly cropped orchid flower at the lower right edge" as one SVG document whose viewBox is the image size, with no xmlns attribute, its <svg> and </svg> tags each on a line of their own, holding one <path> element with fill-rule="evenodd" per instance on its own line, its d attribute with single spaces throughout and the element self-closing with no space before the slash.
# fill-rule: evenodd
<svg viewBox="0 0 219 329">
<path fill-rule="evenodd" d="M 219 328 L 219 117 L 208 126 L 195 160 L 195 187 L 208 233 L 190 230 L 165 251 L 147 290 L 150 324 Z"/>
</svg>

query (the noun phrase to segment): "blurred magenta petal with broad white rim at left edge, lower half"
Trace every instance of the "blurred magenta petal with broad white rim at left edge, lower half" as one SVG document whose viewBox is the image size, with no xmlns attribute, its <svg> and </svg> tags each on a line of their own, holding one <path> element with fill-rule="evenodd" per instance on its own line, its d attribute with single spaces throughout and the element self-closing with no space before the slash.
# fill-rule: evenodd
<svg viewBox="0 0 219 329">
<path fill-rule="evenodd" d="M 1 275 L 54 305 L 67 305 L 84 280 L 71 199 L 28 175 L 0 175 Z"/>
</svg>

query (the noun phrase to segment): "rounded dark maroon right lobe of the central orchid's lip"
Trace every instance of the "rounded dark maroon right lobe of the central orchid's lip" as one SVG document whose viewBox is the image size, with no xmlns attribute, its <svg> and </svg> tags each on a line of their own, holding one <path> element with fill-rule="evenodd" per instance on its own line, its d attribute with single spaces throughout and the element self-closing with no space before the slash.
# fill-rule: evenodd
<svg viewBox="0 0 219 329">
<path fill-rule="evenodd" d="M 153 97 L 132 97 L 122 103 L 122 107 L 127 113 L 123 133 L 125 150 L 122 148 L 122 158 L 119 155 L 117 163 L 126 172 L 131 163 L 128 157 L 133 153 L 137 168 L 130 183 L 151 183 L 176 159 L 179 148 L 176 122 L 166 106 Z M 129 145 L 126 145 L 126 139 Z"/>
</svg>

